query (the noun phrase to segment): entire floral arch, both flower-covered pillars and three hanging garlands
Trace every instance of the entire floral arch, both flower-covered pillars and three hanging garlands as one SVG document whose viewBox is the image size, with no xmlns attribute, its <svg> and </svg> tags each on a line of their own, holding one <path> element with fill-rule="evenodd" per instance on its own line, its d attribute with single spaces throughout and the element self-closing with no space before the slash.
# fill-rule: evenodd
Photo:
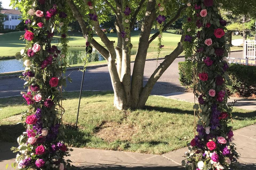
<svg viewBox="0 0 256 170">
<path fill-rule="evenodd" d="M 17 3 L 12 0 L 26 19 L 27 30 L 23 39 L 27 46 L 16 54 L 17 59 L 26 66 L 23 79 L 26 80 L 27 92 L 23 92 L 28 109 L 23 115 L 26 132 L 18 138 L 20 152 L 15 166 L 26 170 L 35 169 L 70 169 L 69 161 L 64 156 L 70 149 L 65 144 L 65 132 L 61 128 L 62 85 L 66 69 L 65 53 L 67 52 L 67 25 L 69 7 L 65 0 L 29 0 Z M 97 21 L 93 10 L 93 1 L 86 1 L 88 8 L 87 23 Z M 131 9 L 127 1 L 123 2 L 123 25 L 121 32 L 127 51 L 130 51 L 130 29 L 126 29 L 131 19 Z M 162 30 L 166 11 L 163 0 L 156 1 L 157 25 L 159 29 L 158 54 L 163 45 Z M 227 104 L 226 83 L 228 65 L 223 60 L 229 52 L 226 43 L 225 25 L 221 18 L 220 3 L 213 0 L 189 0 L 187 19 L 183 25 L 185 32 L 184 46 L 187 62 L 195 66 L 194 93 L 198 97 L 197 135 L 190 142 L 186 159 L 182 162 L 187 169 L 228 169 L 235 166 L 238 154 L 235 152 L 232 127 L 228 126 L 232 117 L 232 106 Z M 126 27 L 127 25 L 127 27 Z M 61 36 L 60 44 L 51 45 L 54 34 Z M 90 46 L 92 30 L 85 35 L 86 46 Z M 89 50 L 89 48 L 87 48 Z M 195 75 L 195 74 L 194 74 Z M 195 81 L 196 82 L 196 81 Z M 200 108 L 200 109 L 199 109 Z M 200 111 L 199 111 L 200 110 Z"/>
</svg>

